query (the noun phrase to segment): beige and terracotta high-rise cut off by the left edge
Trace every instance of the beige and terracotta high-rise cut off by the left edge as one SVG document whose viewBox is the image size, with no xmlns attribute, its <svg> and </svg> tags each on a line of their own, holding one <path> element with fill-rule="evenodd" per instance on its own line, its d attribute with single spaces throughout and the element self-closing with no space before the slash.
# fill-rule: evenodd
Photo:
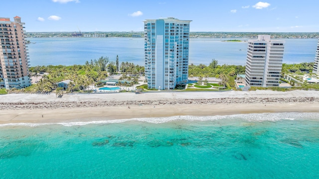
<svg viewBox="0 0 319 179">
<path fill-rule="evenodd" d="M 18 16 L 13 19 L 0 17 L 0 88 L 21 89 L 30 86 L 30 62 L 24 23 Z"/>
</svg>

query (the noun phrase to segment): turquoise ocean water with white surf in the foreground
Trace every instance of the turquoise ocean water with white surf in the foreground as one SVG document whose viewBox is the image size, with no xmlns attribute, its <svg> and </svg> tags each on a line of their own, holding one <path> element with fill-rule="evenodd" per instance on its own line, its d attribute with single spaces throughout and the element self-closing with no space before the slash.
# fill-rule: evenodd
<svg viewBox="0 0 319 179">
<path fill-rule="evenodd" d="M 3 179 L 315 179 L 319 113 L 0 125 Z"/>
</svg>

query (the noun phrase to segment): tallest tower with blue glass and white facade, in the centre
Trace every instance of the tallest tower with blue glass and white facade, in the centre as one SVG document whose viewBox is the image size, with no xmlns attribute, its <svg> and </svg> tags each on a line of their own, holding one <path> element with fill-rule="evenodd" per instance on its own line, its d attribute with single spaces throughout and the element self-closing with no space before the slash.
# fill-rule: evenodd
<svg viewBox="0 0 319 179">
<path fill-rule="evenodd" d="M 188 79 L 189 23 L 176 18 L 147 19 L 145 78 L 149 89 L 174 89 Z"/>
</svg>

